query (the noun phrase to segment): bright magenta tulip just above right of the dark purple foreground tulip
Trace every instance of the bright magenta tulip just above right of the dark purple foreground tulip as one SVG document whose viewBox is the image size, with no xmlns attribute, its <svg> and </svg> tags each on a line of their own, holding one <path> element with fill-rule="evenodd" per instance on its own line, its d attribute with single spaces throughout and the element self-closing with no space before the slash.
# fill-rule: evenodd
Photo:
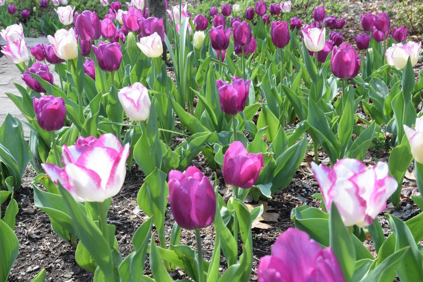
<svg viewBox="0 0 423 282">
<path fill-rule="evenodd" d="M 235 141 L 223 157 L 223 178 L 226 184 L 248 189 L 257 181 L 263 167 L 261 153 L 248 153 L 242 142 Z"/>
</svg>

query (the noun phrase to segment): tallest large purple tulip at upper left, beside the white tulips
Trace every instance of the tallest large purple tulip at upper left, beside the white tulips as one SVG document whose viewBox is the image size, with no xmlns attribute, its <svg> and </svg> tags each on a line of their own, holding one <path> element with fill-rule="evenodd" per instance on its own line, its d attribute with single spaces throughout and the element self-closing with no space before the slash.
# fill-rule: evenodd
<svg viewBox="0 0 423 282">
<path fill-rule="evenodd" d="M 74 15 L 76 33 L 85 41 L 94 41 L 100 38 L 102 26 L 96 12 L 88 10 Z"/>
</svg>

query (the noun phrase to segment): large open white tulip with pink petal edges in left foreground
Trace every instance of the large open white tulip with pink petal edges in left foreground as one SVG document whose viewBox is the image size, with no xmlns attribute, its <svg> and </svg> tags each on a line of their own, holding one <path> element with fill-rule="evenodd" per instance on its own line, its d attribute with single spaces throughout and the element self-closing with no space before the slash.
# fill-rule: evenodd
<svg viewBox="0 0 423 282">
<path fill-rule="evenodd" d="M 85 145 L 63 145 L 64 167 L 49 163 L 41 166 L 77 202 L 104 202 L 122 188 L 128 156 L 129 143 L 122 147 L 115 135 L 107 133 Z"/>
</svg>

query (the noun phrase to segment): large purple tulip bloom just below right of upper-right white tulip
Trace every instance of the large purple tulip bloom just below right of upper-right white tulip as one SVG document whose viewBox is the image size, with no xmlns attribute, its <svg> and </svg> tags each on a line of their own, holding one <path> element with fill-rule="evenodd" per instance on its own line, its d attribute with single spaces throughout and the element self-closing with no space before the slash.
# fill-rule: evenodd
<svg viewBox="0 0 423 282">
<path fill-rule="evenodd" d="M 333 47 L 330 66 L 335 77 L 341 79 L 355 77 L 357 67 L 360 70 L 360 63 L 360 56 L 357 55 L 351 44 L 342 43 L 339 47 Z"/>
</svg>

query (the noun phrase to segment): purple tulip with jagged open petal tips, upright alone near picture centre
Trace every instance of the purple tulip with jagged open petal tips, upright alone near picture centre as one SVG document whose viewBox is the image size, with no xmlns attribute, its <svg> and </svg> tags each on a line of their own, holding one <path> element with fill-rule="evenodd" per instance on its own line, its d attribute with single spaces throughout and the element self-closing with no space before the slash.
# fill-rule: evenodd
<svg viewBox="0 0 423 282">
<path fill-rule="evenodd" d="M 236 76 L 232 77 L 232 84 L 219 79 L 216 81 L 220 98 L 220 109 L 227 115 L 236 115 L 245 108 L 251 80 L 244 82 Z"/>
</svg>

